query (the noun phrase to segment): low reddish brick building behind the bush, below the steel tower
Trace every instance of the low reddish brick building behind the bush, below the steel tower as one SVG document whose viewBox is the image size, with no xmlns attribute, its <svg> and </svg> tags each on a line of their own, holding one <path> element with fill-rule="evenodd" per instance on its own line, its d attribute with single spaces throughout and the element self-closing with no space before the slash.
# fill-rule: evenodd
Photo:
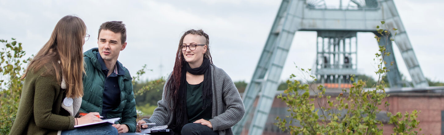
<svg viewBox="0 0 444 135">
<path fill-rule="evenodd" d="M 328 93 L 329 95 L 338 95 L 340 93 L 338 90 L 328 91 L 330 91 L 330 93 Z M 389 101 L 390 105 L 388 108 L 381 106 L 380 109 L 383 111 L 377 115 L 378 119 L 384 123 L 384 135 L 390 135 L 393 132 L 393 125 L 386 123 L 388 121 L 388 117 L 385 114 L 386 110 L 392 113 L 401 112 L 404 114 L 406 111 L 411 113 L 415 109 L 421 111 L 417 118 L 417 120 L 420 121 L 419 128 L 422 128 L 422 131 L 419 131 L 419 128 L 417 129 L 419 134 L 444 135 L 444 86 L 402 88 L 397 90 L 386 89 L 386 91 L 390 96 L 386 97 L 385 100 Z M 277 95 L 281 93 L 282 91 L 278 91 Z M 333 98 L 332 96 L 332 99 Z M 383 101 L 383 103 L 384 102 L 385 101 Z M 256 103 L 254 103 L 254 105 L 256 105 Z M 253 109 L 255 109 L 255 106 Z M 282 132 L 274 125 L 274 123 L 277 122 L 277 120 L 275 120 L 277 116 L 284 118 L 289 115 L 290 113 L 287 112 L 285 102 L 275 97 L 263 135 L 289 135 L 289 133 Z M 247 135 L 247 128 L 250 127 L 252 117 L 252 115 L 248 116 L 242 135 Z"/>
</svg>

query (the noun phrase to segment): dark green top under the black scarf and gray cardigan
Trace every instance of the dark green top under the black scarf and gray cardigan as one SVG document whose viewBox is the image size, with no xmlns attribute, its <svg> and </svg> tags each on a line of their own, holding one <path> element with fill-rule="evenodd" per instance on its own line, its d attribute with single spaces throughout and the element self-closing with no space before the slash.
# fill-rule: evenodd
<svg viewBox="0 0 444 135">
<path fill-rule="evenodd" d="M 196 120 L 211 119 L 211 110 L 213 105 L 203 108 L 202 98 L 203 82 L 199 84 L 188 84 L 186 82 L 186 111 L 188 116 L 188 123 L 193 123 Z"/>
</svg>

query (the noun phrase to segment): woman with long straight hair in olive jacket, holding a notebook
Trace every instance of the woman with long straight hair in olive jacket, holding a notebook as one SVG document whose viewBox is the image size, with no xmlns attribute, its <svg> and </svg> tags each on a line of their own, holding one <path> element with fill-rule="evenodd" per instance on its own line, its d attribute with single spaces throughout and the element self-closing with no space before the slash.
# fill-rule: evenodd
<svg viewBox="0 0 444 135">
<path fill-rule="evenodd" d="M 10 135 L 69 134 L 65 131 L 74 129 L 74 125 L 101 121 L 96 116 L 98 112 L 77 118 L 85 72 L 83 44 L 89 38 L 86 30 L 83 20 L 72 15 L 64 16 L 56 24 L 51 38 L 31 60 L 22 76 L 24 87 Z M 117 135 L 117 130 L 109 127 L 96 128 Z M 89 131 L 94 130 L 77 132 Z M 96 131 L 95 135 L 104 133 Z"/>
</svg>

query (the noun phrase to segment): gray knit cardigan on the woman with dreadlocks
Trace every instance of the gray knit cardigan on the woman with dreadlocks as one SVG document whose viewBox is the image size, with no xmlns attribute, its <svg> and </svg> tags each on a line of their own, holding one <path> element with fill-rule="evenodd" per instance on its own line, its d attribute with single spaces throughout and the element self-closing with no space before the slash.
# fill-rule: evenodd
<svg viewBox="0 0 444 135">
<path fill-rule="evenodd" d="M 213 111 L 210 119 L 214 131 L 219 135 L 233 135 L 233 127 L 245 113 L 245 107 L 239 95 L 238 89 L 234 86 L 230 76 L 221 68 L 210 64 L 211 82 L 213 83 Z M 168 79 L 170 79 L 170 76 Z M 166 79 L 166 82 L 168 82 Z M 162 100 L 157 102 L 158 107 L 154 110 L 150 119 L 143 119 L 147 123 L 156 123 L 156 126 L 170 125 L 173 120 L 173 101 L 169 97 L 170 90 L 163 86 Z"/>
</svg>

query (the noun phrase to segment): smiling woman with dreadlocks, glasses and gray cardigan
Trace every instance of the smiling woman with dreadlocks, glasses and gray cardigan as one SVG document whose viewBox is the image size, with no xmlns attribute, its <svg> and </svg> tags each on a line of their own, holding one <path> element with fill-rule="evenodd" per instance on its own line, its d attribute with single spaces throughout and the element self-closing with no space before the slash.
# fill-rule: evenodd
<svg viewBox="0 0 444 135">
<path fill-rule="evenodd" d="M 163 87 L 162 100 L 149 119 L 138 122 L 168 125 L 174 134 L 233 135 L 245 109 L 230 76 L 214 66 L 208 34 L 188 30 L 180 38 L 174 69 Z"/>
</svg>

